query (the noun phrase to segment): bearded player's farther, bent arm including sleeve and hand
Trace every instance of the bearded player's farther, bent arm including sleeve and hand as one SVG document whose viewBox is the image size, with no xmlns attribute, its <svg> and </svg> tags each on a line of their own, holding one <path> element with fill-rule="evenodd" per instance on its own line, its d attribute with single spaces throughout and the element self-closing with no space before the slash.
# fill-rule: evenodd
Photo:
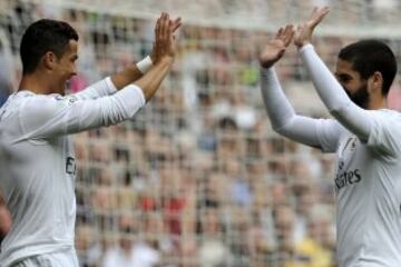
<svg viewBox="0 0 401 267">
<path fill-rule="evenodd" d="M 333 152 L 340 136 L 339 125 L 333 120 L 297 116 L 286 99 L 273 69 L 274 63 L 285 53 L 285 48 L 292 41 L 293 34 L 292 26 L 280 29 L 260 56 L 262 97 L 267 116 L 273 129 L 278 134 L 304 145 Z"/>
</svg>

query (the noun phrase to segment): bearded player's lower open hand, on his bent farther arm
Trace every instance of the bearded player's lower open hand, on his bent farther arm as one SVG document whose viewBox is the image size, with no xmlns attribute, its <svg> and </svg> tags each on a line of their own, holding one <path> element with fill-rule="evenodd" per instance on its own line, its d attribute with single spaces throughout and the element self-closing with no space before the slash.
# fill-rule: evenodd
<svg viewBox="0 0 401 267">
<path fill-rule="evenodd" d="M 294 37 L 294 27 L 292 24 L 280 28 L 275 37 L 267 41 L 260 55 L 260 63 L 263 68 L 271 68 L 285 53 L 285 49 Z"/>
</svg>

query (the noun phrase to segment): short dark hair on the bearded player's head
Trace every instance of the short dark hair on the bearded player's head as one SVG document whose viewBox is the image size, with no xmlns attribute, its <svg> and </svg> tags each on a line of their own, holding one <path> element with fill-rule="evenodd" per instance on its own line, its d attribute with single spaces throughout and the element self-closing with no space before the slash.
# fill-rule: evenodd
<svg viewBox="0 0 401 267">
<path fill-rule="evenodd" d="M 375 71 L 383 77 L 382 93 L 387 96 L 397 73 L 393 51 L 382 41 L 361 40 L 341 49 L 339 58 L 352 63 L 361 78 L 368 79 Z"/>
</svg>

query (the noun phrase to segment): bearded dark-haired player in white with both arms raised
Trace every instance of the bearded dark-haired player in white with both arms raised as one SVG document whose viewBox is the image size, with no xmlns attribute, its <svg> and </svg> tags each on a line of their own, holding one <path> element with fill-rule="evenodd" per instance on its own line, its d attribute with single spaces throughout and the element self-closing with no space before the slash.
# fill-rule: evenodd
<svg viewBox="0 0 401 267">
<path fill-rule="evenodd" d="M 286 26 L 266 43 L 260 56 L 265 108 L 278 134 L 336 152 L 340 266 L 401 266 L 401 116 L 387 107 L 395 58 L 380 41 L 358 41 L 340 51 L 336 80 L 311 44 L 327 12 L 315 9 L 295 34 Z M 285 98 L 273 66 L 292 39 L 333 119 L 297 116 Z"/>
</svg>

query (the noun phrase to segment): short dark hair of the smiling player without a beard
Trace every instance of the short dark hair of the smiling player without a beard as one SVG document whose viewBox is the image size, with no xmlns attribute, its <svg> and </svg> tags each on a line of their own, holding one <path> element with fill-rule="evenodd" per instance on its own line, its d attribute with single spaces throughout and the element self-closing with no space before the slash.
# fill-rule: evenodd
<svg viewBox="0 0 401 267">
<path fill-rule="evenodd" d="M 41 57 L 48 51 L 60 58 L 70 40 L 78 41 L 78 33 L 67 22 L 41 19 L 30 24 L 20 46 L 23 75 L 33 72 Z"/>
</svg>

